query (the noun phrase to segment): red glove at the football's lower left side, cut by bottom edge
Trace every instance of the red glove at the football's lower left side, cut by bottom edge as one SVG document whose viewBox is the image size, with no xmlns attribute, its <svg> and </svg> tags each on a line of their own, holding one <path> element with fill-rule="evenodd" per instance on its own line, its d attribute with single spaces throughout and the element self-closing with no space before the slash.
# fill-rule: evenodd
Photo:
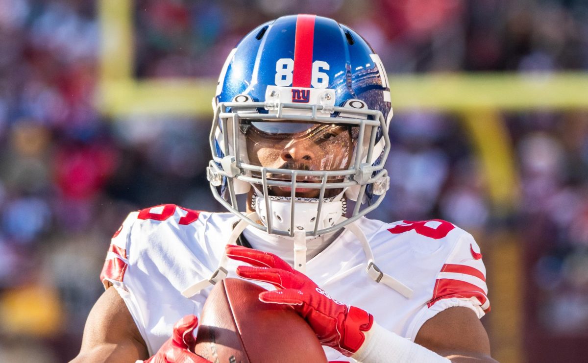
<svg viewBox="0 0 588 363">
<path fill-rule="evenodd" d="M 145 363 L 211 363 L 193 353 L 196 338 L 193 331 L 198 327 L 195 315 L 186 315 L 173 325 L 172 337 L 169 338 L 153 357 Z"/>
</svg>

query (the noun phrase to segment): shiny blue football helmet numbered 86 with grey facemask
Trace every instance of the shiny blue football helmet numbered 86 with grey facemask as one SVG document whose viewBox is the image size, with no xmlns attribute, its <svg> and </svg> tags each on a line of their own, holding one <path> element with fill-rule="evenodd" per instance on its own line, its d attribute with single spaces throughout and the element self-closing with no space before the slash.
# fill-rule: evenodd
<svg viewBox="0 0 588 363">
<path fill-rule="evenodd" d="M 319 236 L 383 200 L 390 89 L 380 58 L 348 26 L 290 15 L 253 29 L 226 59 L 213 109 L 208 180 L 252 226 Z M 242 213 L 243 193 L 257 216 Z"/>
</svg>

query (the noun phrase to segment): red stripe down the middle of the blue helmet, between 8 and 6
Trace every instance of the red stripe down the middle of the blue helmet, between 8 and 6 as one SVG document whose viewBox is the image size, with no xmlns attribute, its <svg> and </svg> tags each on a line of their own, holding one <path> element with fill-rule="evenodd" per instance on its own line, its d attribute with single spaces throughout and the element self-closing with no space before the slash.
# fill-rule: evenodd
<svg viewBox="0 0 588 363">
<path fill-rule="evenodd" d="M 310 87 L 312 76 L 312 45 L 315 39 L 316 15 L 300 14 L 296 18 L 293 87 Z"/>
</svg>

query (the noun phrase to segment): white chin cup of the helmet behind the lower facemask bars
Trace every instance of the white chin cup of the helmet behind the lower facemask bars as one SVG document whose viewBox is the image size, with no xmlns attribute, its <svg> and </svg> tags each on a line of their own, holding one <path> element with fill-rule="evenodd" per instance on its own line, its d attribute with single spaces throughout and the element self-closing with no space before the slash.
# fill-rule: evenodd
<svg viewBox="0 0 588 363">
<path fill-rule="evenodd" d="M 320 216 L 317 215 L 319 203 L 316 199 L 296 198 L 294 210 L 292 211 L 290 197 L 270 196 L 269 200 L 266 201 L 264 196 L 256 195 L 253 207 L 258 211 L 259 217 L 265 226 L 268 226 L 269 219 L 272 230 L 286 232 L 290 232 L 290 226 L 292 226 L 291 217 L 294 219 L 295 232 L 314 231 L 317 219 L 319 220 L 317 230 L 335 226 L 345 214 L 347 208 L 343 193 L 340 193 L 332 200 L 323 200 Z"/>
</svg>

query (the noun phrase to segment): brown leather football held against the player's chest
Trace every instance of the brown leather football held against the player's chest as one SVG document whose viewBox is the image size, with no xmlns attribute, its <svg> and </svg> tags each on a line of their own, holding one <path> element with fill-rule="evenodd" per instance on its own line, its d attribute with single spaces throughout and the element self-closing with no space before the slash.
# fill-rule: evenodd
<svg viewBox="0 0 588 363">
<path fill-rule="evenodd" d="M 206 300 L 196 354 L 212 362 L 327 362 L 309 325 L 287 305 L 266 304 L 262 287 L 225 278 Z"/>
</svg>

